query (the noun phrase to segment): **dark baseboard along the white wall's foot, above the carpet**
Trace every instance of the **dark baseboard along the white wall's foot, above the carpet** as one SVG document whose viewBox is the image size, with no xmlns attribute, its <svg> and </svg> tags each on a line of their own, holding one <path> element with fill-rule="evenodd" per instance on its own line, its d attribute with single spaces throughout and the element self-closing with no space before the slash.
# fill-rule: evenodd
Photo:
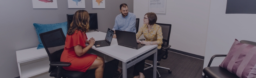
<svg viewBox="0 0 256 78">
<path fill-rule="evenodd" d="M 180 54 L 184 54 L 184 55 L 187 55 L 187 56 L 191 56 L 191 57 L 195 57 L 195 58 L 204 60 L 204 56 L 195 55 L 195 54 L 191 54 L 191 53 L 188 53 L 188 52 L 183 52 L 183 51 L 176 50 L 176 49 L 171 49 L 171 48 L 169 48 L 168 50 L 171 51 L 171 52 L 176 52 L 176 53 L 180 53 Z"/>
</svg>

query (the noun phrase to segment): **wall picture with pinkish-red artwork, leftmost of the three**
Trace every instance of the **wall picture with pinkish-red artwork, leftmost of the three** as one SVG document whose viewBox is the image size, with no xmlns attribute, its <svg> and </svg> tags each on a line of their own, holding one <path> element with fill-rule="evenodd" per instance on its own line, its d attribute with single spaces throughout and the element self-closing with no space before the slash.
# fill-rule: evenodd
<svg viewBox="0 0 256 78">
<path fill-rule="evenodd" d="M 57 0 L 32 0 L 33 8 L 53 8 L 57 9 Z"/>
</svg>

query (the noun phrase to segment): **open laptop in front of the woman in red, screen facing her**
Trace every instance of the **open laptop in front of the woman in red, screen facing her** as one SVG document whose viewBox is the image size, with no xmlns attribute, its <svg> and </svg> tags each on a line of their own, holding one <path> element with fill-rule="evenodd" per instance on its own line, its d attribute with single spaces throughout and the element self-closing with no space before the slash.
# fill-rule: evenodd
<svg viewBox="0 0 256 78">
<path fill-rule="evenodd" d="M 95 47 L 110 46 L 113 35 L 114 35 L 114 31 L 111 29 L 108 29 L 105 40 L 95 41 L 94 46 Z"/>
</svg>

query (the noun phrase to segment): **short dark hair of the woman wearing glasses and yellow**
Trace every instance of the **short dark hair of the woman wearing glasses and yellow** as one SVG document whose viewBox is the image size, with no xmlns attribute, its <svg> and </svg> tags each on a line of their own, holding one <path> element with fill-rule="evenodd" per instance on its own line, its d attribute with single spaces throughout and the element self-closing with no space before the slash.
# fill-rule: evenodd
<svg viewBox="0 0 256 78">
<path fill-rule="evenodd" d="M 157 16 L 156 16 L 156 14 L 155 13 L 147 13 L 147 14 L 145 14 L 144 16 L 148 16 L 148 24 L 149 25 L 154 25 L 155 23 L 156 23 L 156 20 L 157 20 Z"/>
</svg>

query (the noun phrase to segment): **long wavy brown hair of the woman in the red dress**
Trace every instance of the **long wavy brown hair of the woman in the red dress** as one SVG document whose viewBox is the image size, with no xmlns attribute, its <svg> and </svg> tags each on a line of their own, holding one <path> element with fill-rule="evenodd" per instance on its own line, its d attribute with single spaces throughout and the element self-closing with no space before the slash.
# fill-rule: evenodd
<svg viewBox="0 0 256 78">
<path fill-rule="evenodd" d="M 76 11 L 67 34 L 72 35 L 76 30 L 86 33 L 89 30 L 89 20 L 89 13 L 86 10 Z"/>
</svg>

